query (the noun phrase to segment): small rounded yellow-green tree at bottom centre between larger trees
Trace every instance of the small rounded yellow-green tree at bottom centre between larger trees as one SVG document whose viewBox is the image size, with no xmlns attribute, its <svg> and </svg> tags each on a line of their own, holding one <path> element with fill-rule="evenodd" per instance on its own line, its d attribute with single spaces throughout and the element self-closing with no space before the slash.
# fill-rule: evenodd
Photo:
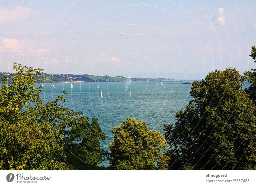
<svg viewBox="0 0 256 186">
<path fill-rule="evenodd" d="M 148 131 L 144 121 L 129 118 L 112 129 L 114 139 L 109 145 L 111 167 L 117 170 L 165 170 L 169 158 L 166 140 L 160 132 Z"/>
</svg>

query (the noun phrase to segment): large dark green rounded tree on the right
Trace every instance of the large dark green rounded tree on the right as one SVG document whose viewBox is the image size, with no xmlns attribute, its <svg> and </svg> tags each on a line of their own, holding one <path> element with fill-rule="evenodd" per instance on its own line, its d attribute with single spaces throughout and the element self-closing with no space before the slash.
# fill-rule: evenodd
<svg viewBox="0 0 256 186">
<path fill-rule="evenodd" d="M 252 170 L 256 166 L 255 106 L 245 78 L 227 68 L 192 84 L 194 98 L 165 125 L 170 170 Z"/>
</svg>

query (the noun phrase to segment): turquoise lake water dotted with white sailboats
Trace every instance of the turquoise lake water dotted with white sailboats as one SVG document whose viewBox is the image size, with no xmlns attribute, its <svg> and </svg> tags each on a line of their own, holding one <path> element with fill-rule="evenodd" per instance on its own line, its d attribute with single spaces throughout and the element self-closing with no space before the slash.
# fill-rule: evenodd
<svg viewBox="0 0 256 186">
<path fill-rule="evenodd" d="M 164 134 L 163 126 L 174 123 L 174 114 L 186 108 L 192 99 L 189 96 L 191 84 L 177 81 L 164 81 L 164 85 L 154 81 L 73 83 L 73 86 L 71 89 L 70 83 L 45 83 L 41 97 L 44 101 L 52 101 L 66 90 L 65 107 L 83 112 L 90 119 L 99 119 L 101 129 L 108 136 L 101 143 L 104 149 L 108 149 L 113 139 L 111 129 L 130 117 L 146 121 L 149 129 Z M 129 96 L 130 88 L 132 96 Z"/>
</svg>

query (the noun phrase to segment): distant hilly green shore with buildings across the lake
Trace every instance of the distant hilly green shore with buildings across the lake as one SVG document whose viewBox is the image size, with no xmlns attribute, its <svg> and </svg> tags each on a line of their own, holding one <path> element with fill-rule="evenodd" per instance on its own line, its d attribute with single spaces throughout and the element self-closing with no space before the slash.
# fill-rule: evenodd
<svg viewBox="0 0 256 186">
<path fill-rule="evenodd" d="M 0 72 L 0 83 L 2 82 L 3 76 L 7 77 L 7 83 L 12 83 L 12 73 Z M 16 74 L 13 74 L 15 76 Z M 89 74 L 41 74 L 37 78 L 43 79 L 45 81 L 37 81 L 38 83 L 60 83 L 60 82 L 121 82 L 121 81 L 175 81 L 172 78 L 134 78 L 134 77 L 124 77 L 124 76 L 115 76 L 111 77 L 108 75 L 99 76 L 99 75 L 89 75 Z"/>
</svg>

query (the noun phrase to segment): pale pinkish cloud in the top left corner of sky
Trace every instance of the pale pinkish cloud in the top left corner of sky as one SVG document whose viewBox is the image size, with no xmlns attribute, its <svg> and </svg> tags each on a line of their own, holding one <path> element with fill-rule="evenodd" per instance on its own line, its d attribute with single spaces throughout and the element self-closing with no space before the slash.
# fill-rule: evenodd
<svg viewBox="0 0 256 186">
<path fill-rule="evenodd" d="M 32 9 L 24 6 L 15 5 L 9 9 L 0 6 L 0 24 L 10 24 L 15 21 L 21 21 L 31 13 L 33 13 Z"/>
</svg>

